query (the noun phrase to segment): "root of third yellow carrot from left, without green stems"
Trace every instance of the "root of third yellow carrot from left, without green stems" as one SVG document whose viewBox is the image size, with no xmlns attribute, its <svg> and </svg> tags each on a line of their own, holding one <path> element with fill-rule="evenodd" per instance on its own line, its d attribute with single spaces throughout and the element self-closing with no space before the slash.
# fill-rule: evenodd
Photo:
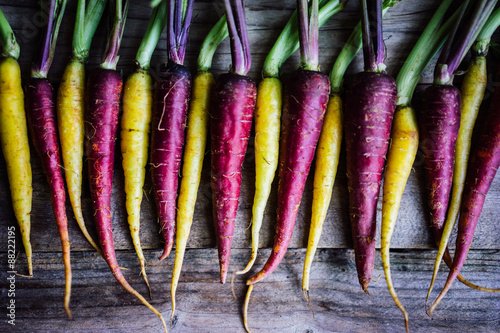
<svg viewBox="0 0 500 333">
<path fill-rule="evenodd" d="M 137 70 L 125 83 L 121 120 L 122 166 L 125 174 L 125 206 L 130 234 L 139 257 L 141 274 L 148 289 L 146 259 L 142 252 L 139 227 L 146 164 L 148 161 L 149 126 L 153 107 L 153 79 L 145 70 Z M 151 290 L 150 290 L 151 297 Z"/>
</svg>

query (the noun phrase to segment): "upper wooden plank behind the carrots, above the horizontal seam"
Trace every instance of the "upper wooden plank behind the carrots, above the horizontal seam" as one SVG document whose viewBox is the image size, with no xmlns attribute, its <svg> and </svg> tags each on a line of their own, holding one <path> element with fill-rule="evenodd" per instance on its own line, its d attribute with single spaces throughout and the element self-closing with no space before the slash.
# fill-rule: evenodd
<svg viewBox="0 0 500 333">
<path fill-rule="evenodd" d="M 37 7 L 32 1 L 16 1 L 16 5 L 8 2 L 2 6 L 6 16 L 12 22 L 13 28 L 21 45 L 20 63 L 23 74 L 28 75 L 33 48 L 36 45 L 36 34 L 34 29 L 39 22 Z M 133 69 L 132 60 L 136 49 L 140 43 L 141 36 L 146 27 L 150 9 L 145 3 L 134 2 L 131 5 L 130 17 L 124 33 L 124 41 L 120 50 L 119 69 L 125 75 Z M 388 49 L 387 64 L 390 74 L 396 75 L 412 45 L 418 38 L 419 32 L 425 26 L 430 15 L 435 8 L 434 1 L 406 0 L 398 5 L 386 15 L 384 29 L 386 31 L 386 46 Z M 259 70 L 266 53 L 271 48 L 281 28 L 288 20 L 289 15 L 295 8 L 293 0 L 283 0 L 272 5 L 259 1 L 248 1 L 247 20 L 249 25 L 250 41 L 252 44 L 252 71 L 250 74 L 258 80 Z M 223 12 L 221 4 L 213 1 L 197 1 L 195 14 L 190 32 L 189 46 L 187 49 L 186 63 L 192 68 L 206 32 L 216 21 L 219 14 Z M 75 3 L 70 2 L 67 14 L 63 20 L 61 36 L 58 41 L 58 49 L 54 59 L 53 68 L 50 71 L 50 78 L 56 82 L 60 79 L 66 61 L 70 55 L 73 22 L 75 15 Z M 329 70 L 335 55 L 343 46 L 342 42 L 350 34 L 358 16 L 358 7 L 351 1 L 345 10 L 335 15 L 322 29 L 320 60 L 323 70 Z M 99 63 L 100 45 L 103 43 L 104 31 L 100 27 L 94 40 L 94 47 L 91 52 L 88 68 L 93 68 Z M 335 41 L 335 42 L 334 42 Z M 214 72 L 221 73 L 227 70 L 230 62 L 228 43 L 224 42 L 214 59 Z M 160 64 L 166 58 L 166 41 L 162 37 L 155 52 L 153 63 Z M 298 63 L 298 55 L 294 55 L 283 67 L 284 72 L 293 70 Z M 348 71 L 349 75 L 361 70 L 362 61 L 360 56 Z M 431 82 L 432 66 L 424 73 L 424 83 Z M 252 134 L 253 135 L 253 134 Z M 253 139 L 250 139 L 248 153 L 243 166 L 243 183 L 240 198 L 240 206 L 236 221 L 236 232 L 233 247 L 245 248 L 250 246 L 250 229 L 248 228 L 251 219 L 251 205 L 254 193 L 254 149 Z M 118 150 L 117 150 L 118 151 Z M 33 214 L 32 214 L 32 244 L 35 251 L 58 251 L 59 244 L 52 240 L 57 238 L 57 231 L 54 224 L 52 209 L 50 205 L 50 195 L 45 176 L 41 170 L 38 156 L 32 152 L 33 165 Z M 208 157 L 209 155 L 207 155 Z M 188 246 L 192 248 L 207 248 L 215 246 L 215 236 L 211 219 L 211 191 L 210 191 L 210 166 L 208 158 L 205 161 L 203 175 L 201 179 L 198 201 L 195 212 L 195 223 Z M 126 222 L 126 212 L 124 206 L 123 191 L 123 170 L 121 169 L 121 158 L 117 154 L 115 163 L 116 171 L 114 178 L 113 194 L 113 228 L 115 233 L 115 243 L 117 249 L 131 249 L 132 244 Z M 412 173 L 406 186 L 403 196 L 402 209 L 400 211 L 398 226 L 396 227 L 392 246 L 394 248 L 430 248 L 433 247 L 429 233 L 427 208 L 425 205 L 425 191 L 422 175 L 422 154 L 419 152 Z M 87 170 L 84 170 L 87 174 Z M 261 243 L 262 247 L 272 246 L 274 237 L 274 224 L 276 219 L 276 187 L 275 182 L 273 192 L 264 217 Z M 145 185 L 146 198 L 142 206 L 142 235 L 141 241 L 144 248 L 157 249 L 162 247 L 162 238 L 159 234 L 159 225 L 156 222 L 156 212 L 151 193 L 151 180 L 149 175 Z M 3 157 L 0 160 L 0 224 L 15 224 L 13 211 L 10 204 L 10 194 L 6 177 L 5 162 Z M 310 177 L 305 191 L 302 205 L 299 210 L 297 227 L 294 232 L 290 246 L 293 248 L 305 247 L 311 215 L 312 200 L 312 177 Z M 482 214 L 482 221 L 498 220 L 498 205 L 500 200 L 500 176 L 488 194 L 486 204 Z M 92 221 L 92 211 L 90 204 L 90 192 L 88 182 L 85 178 L 83 184 L 83 207 L 88 229 L 95 237 Z M 352 246 L 350 236 L 350 226 L 347 215 L 347 190 L 345 177 L 345 156 L 341 157 L 338 175 L 333 191 L 332 203 L 325 222 L 324 233 L 321 239 L 321 247 L 350 247 Z M 89 245 L 81 235 L 73 219 L 68 201 L 68 216 L 70 218 L 70 236 L 72 248 L 75 250 L 90 249 Z M 379 219 L 380 221 L 380 204 Z M 380 229 L 380 228 L 379 228 Z M 474 248 L 499 248 L 496 235 L 500 233 L 499 223 L 480 223 L 473 243 Z M 378 237 L 380 238 L 380 237 Z M 0 251 L 6 250 L 6 244 L 0 243 Z"/>
</svg>

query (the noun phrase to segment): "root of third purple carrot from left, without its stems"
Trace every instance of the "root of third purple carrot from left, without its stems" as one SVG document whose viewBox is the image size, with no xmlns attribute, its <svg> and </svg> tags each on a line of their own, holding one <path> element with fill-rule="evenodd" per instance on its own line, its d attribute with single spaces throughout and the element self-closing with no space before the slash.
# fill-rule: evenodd
<svg viewBox="0 0 500 333">
<path fill-rule="evenodd" d="M 151 176 L 158 218 L 165 239 L 160 260 L 174 244 L 179 169 L 184 129 L 191 94 L 191 73 L 183 65 L 169 62 L 160 71 L 153 98 Z"/>
</svg>

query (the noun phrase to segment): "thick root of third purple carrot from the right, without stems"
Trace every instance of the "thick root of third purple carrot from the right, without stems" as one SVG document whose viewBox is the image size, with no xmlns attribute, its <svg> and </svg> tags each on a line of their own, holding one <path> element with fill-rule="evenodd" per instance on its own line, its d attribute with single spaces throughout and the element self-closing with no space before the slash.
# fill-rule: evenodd
<svg viewBox="0 0 500 333">
<path fill-rule="evenodd" d="M 395 80 L 356 74 L 346 91 L 347 187 L 358 279 L 368 292 L 375 260 L 376 209 L 396 109 Z"/>
</svg>

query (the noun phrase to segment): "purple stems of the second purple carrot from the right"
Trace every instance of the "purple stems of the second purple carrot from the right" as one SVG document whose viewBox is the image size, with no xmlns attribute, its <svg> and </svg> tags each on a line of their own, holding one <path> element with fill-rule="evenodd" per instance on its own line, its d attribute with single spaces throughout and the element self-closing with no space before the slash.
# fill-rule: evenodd
<svg viewBox="0 0 500 333">
<path fill-rule="evenodd" d="M 469 4 L 469 0 L 465 4 Z M 462 7 L 460 18 L 450 32 L 443 51 L 439 56 L 434 71 L 434 83 L 448 85 L 453 81 L 453 75 L 460 62 L 467 54 L 472 41 L 481 31 L 486 23 L 486 18 L 491 14 L 497 0 L 479 0 L 475 2 L 472 14 L 467 17 L 466 22 L 462 22 L 466 6 Z"/>
</svg>

